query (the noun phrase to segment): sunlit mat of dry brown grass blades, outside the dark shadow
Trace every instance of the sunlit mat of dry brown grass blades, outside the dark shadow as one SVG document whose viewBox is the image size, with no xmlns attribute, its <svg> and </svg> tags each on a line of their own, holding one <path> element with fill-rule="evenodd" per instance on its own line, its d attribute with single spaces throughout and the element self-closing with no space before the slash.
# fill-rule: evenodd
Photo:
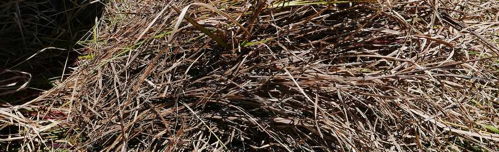
<svg viewBox="0 0 499 152">
<path fill-rule="evenodd" d="M 2 145 L 497 151 L 497 1 L 109 1 Z"/>
</svg>

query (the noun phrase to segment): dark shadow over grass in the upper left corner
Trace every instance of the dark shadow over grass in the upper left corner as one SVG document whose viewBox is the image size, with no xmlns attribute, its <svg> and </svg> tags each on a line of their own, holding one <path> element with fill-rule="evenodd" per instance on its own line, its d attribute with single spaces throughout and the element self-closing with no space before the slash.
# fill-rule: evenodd
<svg viewBox="0 0 499 152">
<path fill-rule="evenodd" d="M 0 101 L 34 98 L 61 80 L 63 72 L 70 73 L 79 55 L 77 42 L 102 10 L 101 2 L 89 0 L 0 1 Z M 60 49 L 40 52 L 47 47 Z M 29 85 L 23 86 L 26 81 Z"/>
</svg>

